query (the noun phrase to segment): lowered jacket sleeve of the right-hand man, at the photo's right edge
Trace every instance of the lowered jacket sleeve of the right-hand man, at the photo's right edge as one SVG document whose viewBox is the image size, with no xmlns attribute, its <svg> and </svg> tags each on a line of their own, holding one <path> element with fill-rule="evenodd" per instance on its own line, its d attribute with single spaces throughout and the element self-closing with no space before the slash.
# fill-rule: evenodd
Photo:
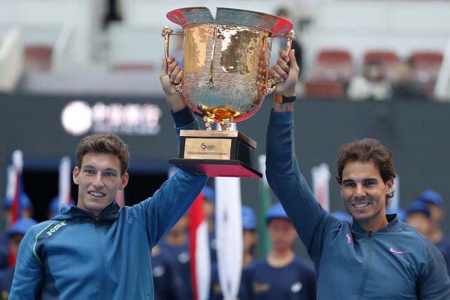
<svg viewBox="0 0 450 300">
<path fill-rule="evenodd" d="M 434 244 L 426 238 L 424 241 L 427 250 L 427 264 L 418 280 L 419 299 L 450 299 L 450 279 L 444 258 Z"/>
</svg>

